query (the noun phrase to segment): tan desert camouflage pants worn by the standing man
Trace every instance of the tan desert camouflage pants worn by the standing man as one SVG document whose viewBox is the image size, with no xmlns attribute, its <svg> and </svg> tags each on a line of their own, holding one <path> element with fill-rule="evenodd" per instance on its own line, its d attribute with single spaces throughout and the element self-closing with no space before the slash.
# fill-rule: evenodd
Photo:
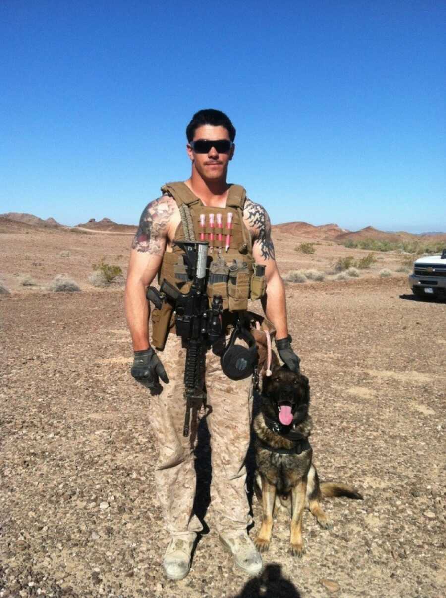
<svg viewBox="0 0 446 598">
<path fill-rule="evenodd" d="M 199 532 L 193 513 L 195 469 L 193 451 L 204 408 L 194 409 L 188 438 L 183 436 L 184 365 L 186 349 L 181 338 L 170 334 L 158 353 L 170 383 L 160 395 L 151 396 L 149 418 L 157 441 L 155 486 L 169 535 Z M 252 399 L 251 378 L 234 382 L 222 372 L 212 350 L 206 354 L 207 426 L 211 437 L 211 508 L 218 532 L 244 530 L 251 523 L 245 481 L 245 456 L 249 447 Z"/>
</svg>

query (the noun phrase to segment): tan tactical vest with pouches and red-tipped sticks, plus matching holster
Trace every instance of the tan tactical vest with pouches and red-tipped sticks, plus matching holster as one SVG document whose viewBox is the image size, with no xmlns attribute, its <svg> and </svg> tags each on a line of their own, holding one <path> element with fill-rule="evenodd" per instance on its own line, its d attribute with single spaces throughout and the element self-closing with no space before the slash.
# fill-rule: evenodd
<svg viewBox="0 0 446 598">
<path fill-rule="evenodd" d="M 266 287 L 265 277 L 256 276 L 251 234 L 243 222 L 245 189 L 240 185 L 231 185 L 225 208 L 204 206 L 183 182 L 167 183 L 161 187 L 161 191 L 173 197 L 182 214 L 182 221 L 173 240 L 198 241 L 200 234 L 204 234 L 204 240 L 209 243 L 207 295 L 209 301 L 212 301 L 215 294 L 222 296 L 224 320 L 230 324 L 230 314 L 248 309 L 248 300 L 261 298 Z M 187 206 L 186 210 L 184 206 Z M 190 218 L 186 217 L 185 212 Z M 228 213 L 233 215 L 231 228 L 227 227 Z M 210 214 L 214 215 L 214 227 L 210 226 Z M 217 214 L 221 214 L 222 228 L 217 226 Z M 201 225 L 200 215 L 204 215 L 204 227 Z M 210 240 L 211 234 L 213 240 Z M 230 243 L 226 250 L 227 239 Z M 163 280 L 167 280 L 181 292 L 187 293 L 191 283 L 183 256 L 184 252 L 176 245 L 172 252 L 164 252 L 158 282 L 161 284 Z M 164 348 L 167 334 L 174 331 L 175 315 L 172 312 L 172 307 L 167 303 L 163 303 L 161 310 L 154 309 L 151 312 L 152 344 L 157 349 Z"/>
</svg>

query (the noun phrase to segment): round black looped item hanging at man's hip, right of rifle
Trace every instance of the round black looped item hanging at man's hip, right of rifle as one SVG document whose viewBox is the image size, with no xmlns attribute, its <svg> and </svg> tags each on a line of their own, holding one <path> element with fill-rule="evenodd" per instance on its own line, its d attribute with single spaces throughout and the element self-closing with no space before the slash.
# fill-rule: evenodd
<svg viewBox="0 0 446 598">
<path fill-rule="evenodd" d="M 244 340 L 248 347 L 236 344 L 238 338 Z M 245 380 L 254 373 L 257 359 L 257 347 L 251 332 L 244 328 L 234 328 L 228 346 L 220 358 L 221 369 L 226 376 L 231 380 Z"/>
</svg>

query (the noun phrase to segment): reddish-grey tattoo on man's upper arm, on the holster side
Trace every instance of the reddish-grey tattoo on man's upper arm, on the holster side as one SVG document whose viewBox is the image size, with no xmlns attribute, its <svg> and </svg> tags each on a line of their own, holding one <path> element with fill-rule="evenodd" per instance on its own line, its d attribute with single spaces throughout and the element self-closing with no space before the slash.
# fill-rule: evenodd
<svg viewBox="0 0 446 598">
<path fill-rule="evenodd" d="M 132 242 L 132 249 L 142 253 L 160 255 L 167 226 L 175 211 L 175 200 L 163 196 L 149 203 L 143 210 L 139 227 Z"/>
</svg>

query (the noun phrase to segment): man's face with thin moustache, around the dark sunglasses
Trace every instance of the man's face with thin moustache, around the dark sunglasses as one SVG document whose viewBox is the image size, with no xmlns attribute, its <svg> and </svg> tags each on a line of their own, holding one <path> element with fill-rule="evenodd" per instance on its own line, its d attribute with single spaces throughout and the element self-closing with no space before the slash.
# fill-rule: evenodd
<svg viewBox="0 0 446 598">
<path fill-rule="evenodd" d="M 225 127 L 213 127 L 211 124 L 205 124 L 202 127 L 195 129 L 193 141 L 198 141 L 200 139 L 206 139 L 207 141 L 228 139 L 228 141 L 230 141 L 228 130 L 225 129 Z M 201 177 L 205 181 L 215 181 L 225 178 L 229 161 L 232 160 L 234 155 L 234 146 L 231 147 L 228 154 L 219 154 L 214 147 L 210 148 L 207 154 L 198 154 L 197 152 L 194 152 L 188 144 L 187 153 Z"/>
</svg>

